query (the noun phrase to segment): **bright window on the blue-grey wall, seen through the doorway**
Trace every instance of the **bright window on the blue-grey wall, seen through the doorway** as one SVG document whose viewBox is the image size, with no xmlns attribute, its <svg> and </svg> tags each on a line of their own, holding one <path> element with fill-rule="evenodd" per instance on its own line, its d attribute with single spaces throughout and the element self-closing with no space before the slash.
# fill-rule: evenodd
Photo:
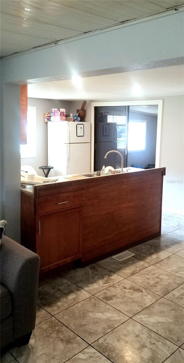
<svg viewBox="0 0 184 363">
<path fill-rule="evenodd" d="M 128 151 L 145 151 L 146 121 L 129 121 Z"/>
</svg>

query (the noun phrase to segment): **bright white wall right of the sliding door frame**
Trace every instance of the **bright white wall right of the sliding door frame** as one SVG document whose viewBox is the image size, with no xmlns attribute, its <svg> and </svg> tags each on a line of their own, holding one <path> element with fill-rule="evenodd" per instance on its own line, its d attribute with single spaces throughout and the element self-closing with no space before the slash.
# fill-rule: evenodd
<svg viewBox="0 0 184 363">
<path fill-rule="evenodd" d="M 160 166 L 166 167 L 163 209 L 184 213 L 184 96 L 164 97 Z"/>
</svg>

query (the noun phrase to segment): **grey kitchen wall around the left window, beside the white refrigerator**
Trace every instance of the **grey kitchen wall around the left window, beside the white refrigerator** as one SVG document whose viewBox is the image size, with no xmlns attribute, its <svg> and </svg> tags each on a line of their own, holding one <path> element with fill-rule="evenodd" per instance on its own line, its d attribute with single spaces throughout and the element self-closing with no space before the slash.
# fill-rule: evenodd
<svg viewBox="0 0 184 363">
<path fill-rule="evenodd" d="M 65 108 L 69 113 L 70 102 L 55 99 L 28 98 L 28 106 L 36 107 L 36 157 L 21 159 L 22 165 L 32 166 L 38 175 L 43 175 L 39 169 L 41 165 L 47 165 L 47 123 L 44 122 L 43 114 L 51 109 Z"/>
</svg>

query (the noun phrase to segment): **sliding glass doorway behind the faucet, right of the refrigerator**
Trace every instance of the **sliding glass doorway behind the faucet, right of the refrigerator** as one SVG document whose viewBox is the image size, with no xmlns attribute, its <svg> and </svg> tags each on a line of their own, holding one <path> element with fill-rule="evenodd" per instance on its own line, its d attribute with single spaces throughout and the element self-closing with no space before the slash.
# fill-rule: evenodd
<svg viewBox="0 0 184 363">
<path fill-rule="evenodd" d="M 161 101 L 162 102 L 162 101 Z M 115 102 L 113 102 L 115 103 Z M 119 102 L 120 103 L 120 102 Z M 125 103 L 125 102 L 124 102 Z M 128 103 L 128 102 L 127 102 Z M 150 169 L 159 166 L 159 146 L 162 104 L 138 101 L 133 105 L 112 105 L 110 102 L 94 103 L 94 171 L 102 166 L 121 167 L 121 157 L 106 152 L 119 151 L 123 167 Z M 161 106 L 161 109 L 159 109 Z"/>
</svg>

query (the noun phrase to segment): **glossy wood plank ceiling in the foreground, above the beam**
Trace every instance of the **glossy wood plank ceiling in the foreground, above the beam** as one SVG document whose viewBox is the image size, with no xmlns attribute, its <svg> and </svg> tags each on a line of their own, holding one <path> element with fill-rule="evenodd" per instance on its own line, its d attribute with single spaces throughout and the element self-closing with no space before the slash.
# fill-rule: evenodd
<svg viewBox="0 0 184 363">
<path fill-rule="evenodd" d="M 140 19 L 184 0 L 1 0 L 1 57 Z"/>
</svg>

